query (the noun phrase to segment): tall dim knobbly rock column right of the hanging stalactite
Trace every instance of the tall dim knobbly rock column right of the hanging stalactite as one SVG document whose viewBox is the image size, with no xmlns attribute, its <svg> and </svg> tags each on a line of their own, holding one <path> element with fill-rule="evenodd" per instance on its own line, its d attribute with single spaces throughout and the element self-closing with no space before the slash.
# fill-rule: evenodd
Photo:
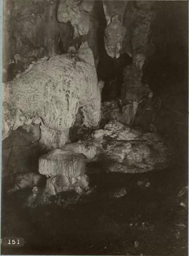
<svg viewBox="0 0 189 256">
<path fill-rule="evenodd" d="M 141 80 L 154 17 L 152 6 L 152 1 L 135 1 L 125 14 L 124 26 L 128 30 L 128 38 L 125 37 L 124 46 L 126 52 L 133 58 L 132 64 L 123 71 L 124 83 L 121 92 L 125 105 L 124 122 L 128 125 L 133 124 L 139 103 L 143 98 L 150 97 L 151 93 L 150 88 Z"/>
</svg>

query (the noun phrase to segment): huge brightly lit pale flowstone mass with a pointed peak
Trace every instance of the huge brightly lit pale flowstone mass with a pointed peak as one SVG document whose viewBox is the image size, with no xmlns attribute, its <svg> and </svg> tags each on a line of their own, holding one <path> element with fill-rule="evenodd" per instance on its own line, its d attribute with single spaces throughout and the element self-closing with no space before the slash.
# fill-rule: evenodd
<svg viewBox="0 0 189 256">
<path fill-rule="evenodd" d="M 2 138 L 23 124 L 41 123 L 41 143 L 59 148 L 68 141 L 78 109 L 90 127 L 99 122 L 100 106 L 92 50 L 82 43 L 77 52 L 39 61 L 4 84 Z"/>
</svg>

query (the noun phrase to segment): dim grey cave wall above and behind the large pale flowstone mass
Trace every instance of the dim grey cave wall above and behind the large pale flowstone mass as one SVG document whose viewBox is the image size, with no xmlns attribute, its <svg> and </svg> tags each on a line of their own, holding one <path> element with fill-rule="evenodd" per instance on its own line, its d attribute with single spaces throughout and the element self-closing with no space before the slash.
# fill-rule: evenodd
<svg viewBox="0 0 189 256">
<path fill-rule="evenodd" d="M 95 63 L 99 59 L 97 35 L 102 9 L 96 1 L 90 14 L 87 34 L 74 38 L 70 22 L 58 22 L 58 0 L 8 0 L 3 12 L 3 82 L 12 80 L 32 62 L 43 57 L 79 48 L 87 41 L 93 50 Z M 100 10 L 101 11 L 100 11 Z"/>
</svg>

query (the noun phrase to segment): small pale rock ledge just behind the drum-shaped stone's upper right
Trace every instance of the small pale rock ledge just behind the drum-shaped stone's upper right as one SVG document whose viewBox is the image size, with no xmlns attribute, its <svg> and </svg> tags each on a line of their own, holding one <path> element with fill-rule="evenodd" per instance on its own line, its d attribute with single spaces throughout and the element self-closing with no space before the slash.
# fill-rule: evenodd
<svg viewBox="0 0 189 256">
<path fill-rule="evenodd" d="M 96 155 L 96 146 L 94 143 L 90 142 L 76 142 L 66 144 L 63 150 L 71 151 L 74 153 L 81 153 L 87 157 L 88 162 L 92 160 Z"/>
</svg>

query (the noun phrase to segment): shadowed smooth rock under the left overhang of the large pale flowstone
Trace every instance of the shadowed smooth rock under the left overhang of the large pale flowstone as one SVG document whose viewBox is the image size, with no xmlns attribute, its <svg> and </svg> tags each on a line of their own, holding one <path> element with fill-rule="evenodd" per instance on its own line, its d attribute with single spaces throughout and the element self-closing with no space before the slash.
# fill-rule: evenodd
<svg viewBox="0 0 189 256">
<path fill-rule="evenodd" d="M 2 177 L 38 168 L 40 127 L 24 125 L 2 141 Z"/>
</svg>

